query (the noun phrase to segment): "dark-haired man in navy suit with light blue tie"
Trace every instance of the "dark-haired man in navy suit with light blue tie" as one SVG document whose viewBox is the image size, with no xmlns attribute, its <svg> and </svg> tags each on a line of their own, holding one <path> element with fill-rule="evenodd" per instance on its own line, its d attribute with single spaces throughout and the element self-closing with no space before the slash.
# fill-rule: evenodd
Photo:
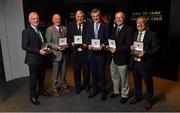
<svg viewBox="0 0 180 113">
<path fill-rule="evenodd" d="M 99 9 L 93 9 L 91 17 L 93 23 L 89 24 L 87 33 L 89 48 L 92 47 L 90 43 L 92 39 L 100 39 L 100 50 L 90 50 L 88 54 L 93 80 L 93 92 L 88 97 L 94 97 L 100 90 L 102 93 L 101 99 L 105 100 L 107 98 L 105 78 L 106 54 L 103 49 L 108 37 L 108 25 L 101 22 L 101 11 Z"/>
</svg>

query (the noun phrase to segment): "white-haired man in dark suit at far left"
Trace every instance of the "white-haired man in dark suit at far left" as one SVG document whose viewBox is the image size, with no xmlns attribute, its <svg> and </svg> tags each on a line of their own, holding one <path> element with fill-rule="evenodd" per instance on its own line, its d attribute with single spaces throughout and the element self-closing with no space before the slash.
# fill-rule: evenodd
<svg viewBox="0 0 180 113">
<path fill-rule="evenodd" d="M 44 56 L 47 51 L 43 48 L 46 42 L 43 32 L 38 29 L 39 16 L 36 12 L 29 14 L 30 25 L 22 33 L 22 48 L 26 51 L 25 63 L 29 65 L 30 71 L 30 100 L 33 104 L 39 105 L 36 84 L 38 82 L 39 94 L 49 96 L 44 90 L 45 64 Z"/>
</svg>

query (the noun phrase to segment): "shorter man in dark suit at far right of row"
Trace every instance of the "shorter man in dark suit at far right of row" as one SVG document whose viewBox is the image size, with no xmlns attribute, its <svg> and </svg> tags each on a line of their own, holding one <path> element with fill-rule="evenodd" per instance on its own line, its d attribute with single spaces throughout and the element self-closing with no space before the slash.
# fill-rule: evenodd
<svg viewBox="0 0 180 113">
<path fill-rule="evenodd" d="M 146 104 L 145 109 L 151 109 L 153 105 L 153 79 L 152 79 L 152 64 L 155 60 L 156 53 L 159 50 L 159 40 L 155 32 L 147 29 L 147 19 L 139 17 L 136 21 L 138 32 L 135 33 L 134 41 L 143 43 L 143 50 L 137 51 L 134 45 L 131 45 L 133 53 L 133 77 L 135 83 L 136 96 L 130 100 L 131 104 L 141 100 L 142 96 L 142 78 L 146 86 Z"/>
</svg>

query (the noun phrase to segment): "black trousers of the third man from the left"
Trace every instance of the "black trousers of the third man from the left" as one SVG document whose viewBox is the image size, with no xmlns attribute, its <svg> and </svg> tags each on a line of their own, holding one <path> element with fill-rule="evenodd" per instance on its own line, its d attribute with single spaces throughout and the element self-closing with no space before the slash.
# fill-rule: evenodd
<svg viewBox="0 0 180 113">
<path fill-rule="evenodd" d="M 89 63 L 84 54 L 83 52 L 77 52 L 76 58 L 72 61 L 76 88 L 81 87 L 81 67 L 83 72 L 83 88 L 89 87 Z"/>
</svg>

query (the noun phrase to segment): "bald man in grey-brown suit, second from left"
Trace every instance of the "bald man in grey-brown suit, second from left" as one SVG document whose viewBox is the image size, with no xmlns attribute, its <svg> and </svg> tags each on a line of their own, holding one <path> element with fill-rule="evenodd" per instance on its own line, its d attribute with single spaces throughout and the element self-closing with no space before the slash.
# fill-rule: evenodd
<svg viewBox="0 0 180 113">
<path fill-rule="evenodd" d="M 59 96 L 59 88 L 69 92 L 66 83 L 66 67 L 67 67 L 67 52 L 66 48 L 59 46 L 60 38 L 67 38 L 67 28 L 61 25 L 61 16 L 54 14 L 52 16 L 53 25 L 46 29 L 46 38 L 52 50 L 52 91 L 54 96 Z M 58 75 L 60 80 L 58 81 Z"/>
</svg>

